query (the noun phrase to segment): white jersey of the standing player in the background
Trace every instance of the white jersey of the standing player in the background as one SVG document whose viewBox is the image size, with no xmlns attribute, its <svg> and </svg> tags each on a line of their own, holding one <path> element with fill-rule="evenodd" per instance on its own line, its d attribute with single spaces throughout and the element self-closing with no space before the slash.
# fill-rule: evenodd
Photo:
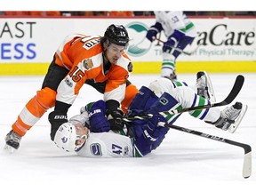
<svg viewBox="0 0 256 192">
<path fill-rule="evenodd" d="M 196 28 L 183 12 L 154 12 L 156 22 L 162 24 L 164 35 L 169 37 L 174 29 L 186 33 L 186 36 L 196 37 Z"/>
</svg>

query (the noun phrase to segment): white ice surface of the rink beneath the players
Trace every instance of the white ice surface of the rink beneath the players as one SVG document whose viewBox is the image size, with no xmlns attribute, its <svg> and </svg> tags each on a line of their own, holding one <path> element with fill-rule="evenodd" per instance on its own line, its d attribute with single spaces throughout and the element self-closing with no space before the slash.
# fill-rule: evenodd
<svg viewBox="0 0 256 192">
<path fill-rule="evenodd" d="M 209 75 L 216 99 L 221 101 L 238 73 Z M 94 159 L 66 153 L 50 140 L 47 116 L 52 108 L 22 138 L 19 150 L 8 154 L 4 151 L 4 137 L 27 101 L 41 88 L 44 76 L 0 76 L 0 190 L 252 191 L 256 184 L 256 74 L 242 75 L 244 87 L 236 100 L 249 108 L 235 133 L 221 131 L 186 113 L 175 124 L 251 145 L 249 179 L 242 176 L 243 148 L 172 129 L 159 148 L 142 158 Z M 140 87 L 157 76 L 132 75 L 130 80 Z M 196 84 L 196 74 L 178 74 L 178 77 L 190 85 Z M 101 98 L 100 93 L 85 84 L 68 116 L 76 115 L 81 106 Z"/>
</svg>

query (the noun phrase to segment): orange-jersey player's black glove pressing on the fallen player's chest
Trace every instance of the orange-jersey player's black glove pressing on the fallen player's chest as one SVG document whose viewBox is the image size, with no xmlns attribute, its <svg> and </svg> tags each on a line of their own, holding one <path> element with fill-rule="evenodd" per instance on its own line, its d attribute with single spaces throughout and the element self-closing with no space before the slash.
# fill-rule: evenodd
<svg viewBox="0 0 256 192">
<path fill-rule="evenodd" d="M 124 128 L 124 122 L 122 120 L 124 113 L 121 109 L 117 108 L 116 110 L 107 110 L 106 114 L 111 130 L 120 131 Z"/>
</svg>

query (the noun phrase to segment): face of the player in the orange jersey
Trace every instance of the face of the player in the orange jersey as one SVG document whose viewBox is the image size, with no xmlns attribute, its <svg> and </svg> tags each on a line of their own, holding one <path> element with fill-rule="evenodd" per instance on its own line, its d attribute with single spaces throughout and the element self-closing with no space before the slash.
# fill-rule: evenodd
<svg viewBox="0 0 256 192">
<path fill-rule="evenodd" d="M 106 50 L 106 56 L 110 63 L 116 63 L 121 57 L 125 50 L 125 46 L 120 46 L 116 44 L 109 44 Z"/>
</svg>

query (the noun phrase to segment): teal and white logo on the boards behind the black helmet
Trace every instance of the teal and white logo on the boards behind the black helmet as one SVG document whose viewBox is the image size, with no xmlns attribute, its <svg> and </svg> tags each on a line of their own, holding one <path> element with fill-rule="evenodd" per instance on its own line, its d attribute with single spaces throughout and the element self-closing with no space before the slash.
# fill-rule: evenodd
<svg viewBox="0 0 256 192">
<path fill-rule="evenodd" d="M 127 54 L 134 57 L 146 54 L 151 47 L 151 42 L 146 38 L 148 26 L 141 22 L 132 22 L 125 26 L 125 28 L 129 30 L 129 36 L 132 37 Z"/>
</svg>

